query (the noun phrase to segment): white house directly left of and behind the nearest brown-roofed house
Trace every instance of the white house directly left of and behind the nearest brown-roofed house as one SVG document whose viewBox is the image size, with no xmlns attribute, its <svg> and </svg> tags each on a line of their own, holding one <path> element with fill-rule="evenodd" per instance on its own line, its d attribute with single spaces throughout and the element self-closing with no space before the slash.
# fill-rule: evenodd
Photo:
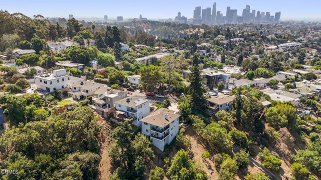
<svg viewBox="0 0 321 180">
<path fill-rule="evenodd" d="M 115 103 L 117 111 L 131 117 L 132 124 L 141 125 L 141 119 L 149 114 L 149 100 L 141 97 L 126 97 Z"/>
</svg>

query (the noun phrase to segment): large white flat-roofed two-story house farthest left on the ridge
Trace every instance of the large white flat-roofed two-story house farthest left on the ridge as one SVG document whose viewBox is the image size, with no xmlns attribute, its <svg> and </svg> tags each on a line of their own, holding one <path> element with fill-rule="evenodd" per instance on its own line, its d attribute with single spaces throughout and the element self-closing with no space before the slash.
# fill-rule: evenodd
<svg viewBox="0 0 321 180">
<path fill-rule="evenodd" d="M 52 73 L 45 73 L 34 76 L 37 88 L 46 92 L 53 92 L 56 89 L 63 89 L 70 84 L 70 76 L 66 69 L 53 70 Z"/>
</svg>

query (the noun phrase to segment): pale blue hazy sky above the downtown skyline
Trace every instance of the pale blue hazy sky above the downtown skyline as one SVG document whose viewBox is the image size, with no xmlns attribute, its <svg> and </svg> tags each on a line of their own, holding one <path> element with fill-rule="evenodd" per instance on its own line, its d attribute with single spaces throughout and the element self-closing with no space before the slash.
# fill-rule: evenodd
<svg viewBox="0 0 321 180">
<path fill-rule="evenodd" d="M 0 9 L 22 12 L 28 16 L 100 17 L 119 15 L 124 18 L 174 18 L 178 11 L 193 17 L 195 6 L 212 7 L 214 0 L 0 0 Z M 237 9 L 238 15 L 246 4 L 251 10 L 281 11 L 281 19 L 321 19 L 321 0 L 216 0 L 217 10 L 226 13 L 226 6 Z"/>
</svg>

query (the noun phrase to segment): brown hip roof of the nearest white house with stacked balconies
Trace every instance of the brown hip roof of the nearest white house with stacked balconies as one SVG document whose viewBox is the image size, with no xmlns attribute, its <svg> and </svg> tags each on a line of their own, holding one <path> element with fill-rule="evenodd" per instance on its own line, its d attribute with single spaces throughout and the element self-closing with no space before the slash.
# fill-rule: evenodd
<svg viewBox="0 0 321 180">
<path fill-rule="evenodd" d="M 147 115 L 146 117 L 142 118 L 140 121 L 157 125 L 159 127 L 165 127 L 166 125 L 170 124 L 172 121 L 176 120 L 180 116 L 181 115 L 175 113 L 174 110 L 162 107 Z"/>
</svg>

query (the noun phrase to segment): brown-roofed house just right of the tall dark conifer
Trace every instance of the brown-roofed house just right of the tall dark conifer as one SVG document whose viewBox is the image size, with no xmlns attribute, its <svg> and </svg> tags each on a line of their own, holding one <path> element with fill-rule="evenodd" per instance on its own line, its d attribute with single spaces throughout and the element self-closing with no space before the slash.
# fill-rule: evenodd
<svg viewBox="0 0 321 180">
<path fill-rule="evenodd" d="M 215 97 L 209 97 L 207 99 L 209 103 L 210 115 L 214 115 L 219 110 L 225 110 L 230 112 L 232 110 L 232 101 L 234 95 L 219 95 Z"/>
</svg>

